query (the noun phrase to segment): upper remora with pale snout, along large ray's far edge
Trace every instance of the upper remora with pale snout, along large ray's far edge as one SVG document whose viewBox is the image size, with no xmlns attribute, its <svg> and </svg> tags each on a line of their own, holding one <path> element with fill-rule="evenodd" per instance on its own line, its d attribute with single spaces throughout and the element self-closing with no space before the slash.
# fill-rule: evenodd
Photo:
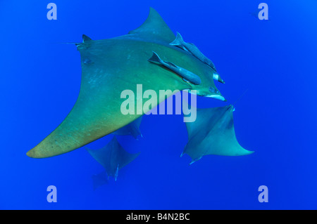
<svg viewBox="0 0 317 224">
<path fill-rule="evenodd" d="M 211 67 L 215 71 L 215 73 L 213 74 L 213 79 L 223 84 L 225 83 L 225 81 L 223 81 L 223 79 L 220 78 L 213 62 L 209 58 L 207 58 L 203 53 L 201 53 L 201 51 L 199 51 L 199 48 L 197 48 L 196 45 L 192 43 L 186 43 L 184 39 L 182 39 L 182 35 L 180 35 L 179 32 L 177 32 L 175 40 L 172 43 L 170 43 L 170 45 L 178 46 L 179 48 L 182 48 L 184 51 L 192 53 L 192 55 L 201 60 L 201 62 L 204 62 L 206 65 L 209 65 L 209 67 Z"/>
</svg>

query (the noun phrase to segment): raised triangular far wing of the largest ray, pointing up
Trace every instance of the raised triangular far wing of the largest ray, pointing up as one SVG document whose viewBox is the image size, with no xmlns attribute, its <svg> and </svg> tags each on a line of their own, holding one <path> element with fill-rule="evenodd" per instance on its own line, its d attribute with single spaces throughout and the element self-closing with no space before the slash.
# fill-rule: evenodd
<svg viewBox="0 0 317 224">
<path fill-rule="evenodd" d="M 129 34 L 136 34 L 142 39 L 160 40 L 166 42 L 166 44 L 175 39 L 173 32 L 166 25 L 163 18 L 161 18 L 161 15 L 151 7 L 147 20 L 137 29 L 130 31 Z"/>
</svg>

